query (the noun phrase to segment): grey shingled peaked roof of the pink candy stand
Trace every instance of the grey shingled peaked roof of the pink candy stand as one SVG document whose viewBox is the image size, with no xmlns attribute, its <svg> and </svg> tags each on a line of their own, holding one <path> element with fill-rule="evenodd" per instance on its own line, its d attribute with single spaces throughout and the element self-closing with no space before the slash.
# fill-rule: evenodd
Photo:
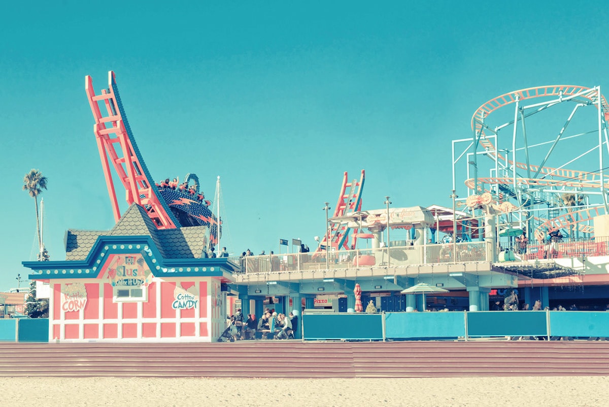
<svg viewBox="0 0 609 407">
<path fill-rule="evenodd" d="M 164 258 L 201 258 L 205 226 L 158 230 L 146 210 L 133 203 L 111 230 L 66 232 L 66 260 L 85 260 L 99 236 L 150 236 Z"/>
</svg>

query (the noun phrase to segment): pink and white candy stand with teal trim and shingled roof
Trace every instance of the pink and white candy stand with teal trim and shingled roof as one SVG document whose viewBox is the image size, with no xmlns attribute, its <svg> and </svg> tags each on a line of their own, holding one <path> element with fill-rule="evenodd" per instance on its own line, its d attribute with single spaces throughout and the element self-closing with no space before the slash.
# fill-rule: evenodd
<svg viewBox="0 0 609 407">
<path fill-rule="evenodd" d="M 110 231 L 68 230 L 65 261 L 23 263 L 51 285 L 49 341 L 214 341 L 236 266 L 205 258 L 206 230 L 160 230 L 135 203 Z"/>
</svg>

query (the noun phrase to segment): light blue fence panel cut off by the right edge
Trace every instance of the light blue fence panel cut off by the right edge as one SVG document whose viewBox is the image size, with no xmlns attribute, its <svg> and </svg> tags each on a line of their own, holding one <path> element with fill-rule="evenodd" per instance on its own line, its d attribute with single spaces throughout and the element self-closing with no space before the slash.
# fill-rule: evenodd
<svg viewBox="0 0 609 407">
<path fill-rule="evenodd" d="M 550 311 L 552 336 L 609 336 L 609 313 Z"/>
</svg>

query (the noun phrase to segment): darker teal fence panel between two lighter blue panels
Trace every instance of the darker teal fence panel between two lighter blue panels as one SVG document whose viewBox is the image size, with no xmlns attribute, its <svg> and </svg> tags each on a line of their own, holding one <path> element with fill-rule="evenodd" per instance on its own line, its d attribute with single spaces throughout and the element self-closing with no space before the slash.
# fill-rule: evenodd
<svg viewBox="0 0 609 407">
<path fill-rule="evenodd" d="M 468 336 L 546 336 L 543 311 L 477 311 L 467 313 Z"/>
</svg>

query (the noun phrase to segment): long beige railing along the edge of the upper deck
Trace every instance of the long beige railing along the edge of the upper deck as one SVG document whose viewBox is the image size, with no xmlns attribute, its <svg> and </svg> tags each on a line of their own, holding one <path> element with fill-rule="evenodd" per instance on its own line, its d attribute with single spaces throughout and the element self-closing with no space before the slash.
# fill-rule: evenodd
<svg viewBox="0 0 609 407">
<path fill-rule="evenodd" d="M 456 256 L 453 250 L 456 248 Z M 328 259 L 326 261 L 326 255 Z M 389 255 L 391 256 L 389 262 Z M 363 267 L 409 266 L 414 264 L 486 261 L 485 242 L 426 244 L 383 247 L 382 249 L 340 250 L 338 252 L 288 253 L 281 255 L 233 257 L 242 273 L 291 272 Z"/>
</svg>

